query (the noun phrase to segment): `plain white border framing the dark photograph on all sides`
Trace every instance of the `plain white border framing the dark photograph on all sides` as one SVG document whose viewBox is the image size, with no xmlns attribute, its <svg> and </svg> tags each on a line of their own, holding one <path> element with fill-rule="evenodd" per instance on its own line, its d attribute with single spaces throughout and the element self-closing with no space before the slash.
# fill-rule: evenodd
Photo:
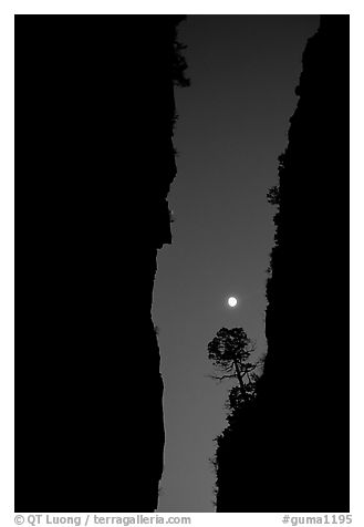
<svg viewBox="0 0 364 527">
<path fill-rule="evenodd" d="M 362 2 L 363 3 L 363 2 Z M 0 12 L 0 525 L 13 524 L 13 14 L 117 13 L 235 13 L 235 14 L 351 14 L 351 444 L 353 525 L 364 525 L 363 384 L 364 384 L 364 250 L 363 250 L 363 8 L 358 1 L 173 1 L 121 2 L 117 0 L 19 0 L 2 2 Z M 343 182 L 344 183 L 344 182 Z M 334 287 L 334 286 L 333 286 Z M 27 431 L 24 431 L 27 433 Z M 333 431 L 334 433 L 334 431 Z M 31 485 L 31 477 L 30 477 Z M 186 513 L 187 514 L 187 513 Z M 194 514 L 193 525 L 273 526 L 281 515 Z M 299 514 L 295 514 L 299 516 Z M 199 518 L 198 520 L 195 519 Z M 243 518 L 242 518 L 243 517 Z M 243 524 L 241 524 L 243 520 Z M 275 524 L 277 521 L 277 524 Z"/>
</svg>

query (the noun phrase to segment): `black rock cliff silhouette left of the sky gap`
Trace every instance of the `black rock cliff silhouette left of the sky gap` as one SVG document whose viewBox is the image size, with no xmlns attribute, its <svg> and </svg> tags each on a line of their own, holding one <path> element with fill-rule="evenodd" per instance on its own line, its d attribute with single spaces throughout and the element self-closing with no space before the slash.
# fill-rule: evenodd
<svg viewBox="0 0 364 527">
<path fill-rule="evenodd" d="M 15 510 L 153 512 L 179 16 L 15 17 Z"/>
</svg>

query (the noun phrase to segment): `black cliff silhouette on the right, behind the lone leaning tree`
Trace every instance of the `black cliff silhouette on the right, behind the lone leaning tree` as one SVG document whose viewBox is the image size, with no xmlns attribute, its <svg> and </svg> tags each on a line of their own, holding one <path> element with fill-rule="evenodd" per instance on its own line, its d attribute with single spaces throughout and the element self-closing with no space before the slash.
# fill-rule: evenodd
<svg viewBox="0 0 364 527">
<path fill-rule="evenodd" d="M 268 193 L 268 353 L 218 438 L 217 512 L 350 512 L 349 16 L 321 17 L 297 94 Z"/>
</svg>

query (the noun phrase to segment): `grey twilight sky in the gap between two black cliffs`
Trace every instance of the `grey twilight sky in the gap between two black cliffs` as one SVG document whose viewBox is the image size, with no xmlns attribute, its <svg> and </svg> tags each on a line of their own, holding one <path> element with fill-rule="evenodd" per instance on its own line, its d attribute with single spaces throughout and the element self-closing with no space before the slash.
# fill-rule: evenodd
<svg viewBox="0 0 364 527">
<path fill-rule="evenodd" d="M 158 252 L 154 323 L 165 383 L 159 512 L 214 512 L 214 437 L 229 384 L 207 344 L 242 327 L 266 351 L 264 287 L 277 183 L 301 58 L 318 16 L 190 16 L 179 40 L 191 86 L 176 89 L 177 177 L 168 196 L 173 245 Z M 227 297 L 239 303 L 231 309 Z"/>
</svg>

